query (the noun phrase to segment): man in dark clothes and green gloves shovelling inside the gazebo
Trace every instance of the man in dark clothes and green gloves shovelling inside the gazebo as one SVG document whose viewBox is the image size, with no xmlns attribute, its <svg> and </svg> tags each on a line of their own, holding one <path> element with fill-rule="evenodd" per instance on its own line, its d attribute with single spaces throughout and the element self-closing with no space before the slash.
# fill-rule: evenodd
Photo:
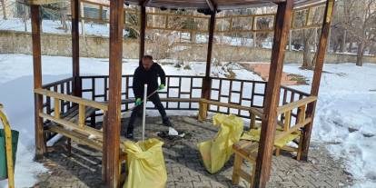
<svg viewBox="0 0 376 188">
<path fill-rule="evenodd" d="M 158 84 L 158 77 L 161 78 L 161 84 Z M 134 137 L 134 121 L 137 114 L 142 110 L 142 100 L 143 100 L 143 85 L 147 84 L 147 95 L 153 94 L 156 90 L 163 90 L 166 83 L 166 76 L 161 65 L 153 63 L 153 56 L 144 55 L 142 65 L 137 67 L 134 71 L 134 97 L 136 99 L 134 110 L 132 111 L 131 118 L 129 120 L 128 128 L 126 131 L 127 138 Z M 159 98 L 159 94 L 155 93 L 151 95 L 148 99 L 152 101 L 155 107 L 158 109 L 162 116 L 163 124 L 166 126 L 172 126 L 166 112 L 164 111 L 163 104 Z"/>
</svg>

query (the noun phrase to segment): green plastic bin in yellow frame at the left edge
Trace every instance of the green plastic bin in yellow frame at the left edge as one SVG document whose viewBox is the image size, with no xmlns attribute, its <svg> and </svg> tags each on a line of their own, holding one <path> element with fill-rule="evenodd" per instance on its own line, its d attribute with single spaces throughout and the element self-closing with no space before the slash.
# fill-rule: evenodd
<svg viewBox="0 0 376 188">
<path fill-rule="evenodd" d="M 18 135 L 18 131 L 12 130 L 13 166 L 15 166 L 15 154 L 17 152 Z M 0 180 L 5 180 L 8 178 L 5 151 L 5 132 L 4 129 L 0 129 Z"/>
</svg>

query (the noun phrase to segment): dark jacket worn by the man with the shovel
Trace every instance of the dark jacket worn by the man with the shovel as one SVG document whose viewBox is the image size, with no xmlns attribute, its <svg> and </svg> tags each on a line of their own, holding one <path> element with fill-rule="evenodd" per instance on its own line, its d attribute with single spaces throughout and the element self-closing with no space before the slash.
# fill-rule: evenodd
<svg viewBox="0 0 376 188">
<path fill-rule="evenodd" d="M 143 84 L 147 84 L 147 93 L 151 94 L 158 89 L 158 76 L 161 77 L 161 84 L 166 84 L 166 75 L 161 65 L 153 63 L 148 71 L 143 65 L 137 67 L 134 71 L 134 97 L 143 98 Z"/>
</svg>

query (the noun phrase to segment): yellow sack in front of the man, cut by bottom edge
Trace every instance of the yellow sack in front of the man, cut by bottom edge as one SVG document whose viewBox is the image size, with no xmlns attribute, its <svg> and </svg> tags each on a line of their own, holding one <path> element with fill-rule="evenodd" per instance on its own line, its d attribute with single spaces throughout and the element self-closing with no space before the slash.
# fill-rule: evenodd
<svg viewBox="0 0 376 188">
<path fill-rule="evenodd" d="M 163 142 L 152 138 L 144 142 L 124 142 L 128 176 L 123 188 L 163 188 L 167 172 L 163 159 Z"/>
</svg>

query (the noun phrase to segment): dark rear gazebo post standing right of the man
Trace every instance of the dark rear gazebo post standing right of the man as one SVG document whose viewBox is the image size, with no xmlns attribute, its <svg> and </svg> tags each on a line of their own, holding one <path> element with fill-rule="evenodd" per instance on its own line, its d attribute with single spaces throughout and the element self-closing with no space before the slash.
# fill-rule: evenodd
<svg viewBox="0 0 376 188">
<path fill-rule="evenodd" d="M 206 71 L 205 71 L 205 77 L 203 78 L 202 98 L 207 99 L 207 100 L 210 100 L 210 91 L 211 91 L 211 88 L 212 88 L 212 79 L 210 77 L 210 73 L 211 73 L 212 54 L 213 54 L 215 12 L 216 12 L 216 10 L 214 10 L 212 12 L 212 15 L 210 16 L 208 52 L 207 52 L 207 56 L 206 56 Z"/>
</svg>

